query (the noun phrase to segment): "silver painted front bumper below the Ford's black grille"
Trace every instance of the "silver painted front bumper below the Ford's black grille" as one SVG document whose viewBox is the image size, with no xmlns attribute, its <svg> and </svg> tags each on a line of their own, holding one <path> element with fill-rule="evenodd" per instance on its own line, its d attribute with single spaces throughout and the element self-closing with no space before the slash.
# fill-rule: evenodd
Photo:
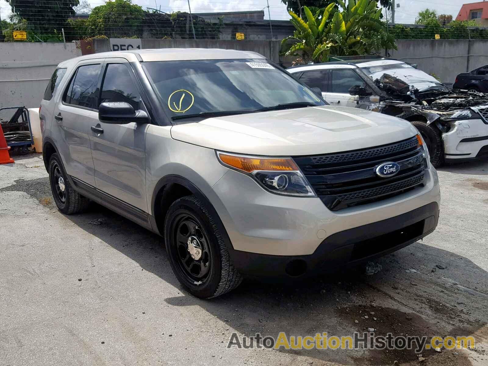
<svg viewBox="0 0 488 366">
<path fill-rule="evenodd" d="M 207 198 L 224 224 L 232 252 L 306 256 L 316 253 L 336 233 L 382 222 L 428 203 L 439 205 L 440 191 L 437 172 L 430 168 L 422 187 L 332 212 L 318 197 L 273 194 L 252 178 L 229 170 L 207 192 Z"/>
</svg>

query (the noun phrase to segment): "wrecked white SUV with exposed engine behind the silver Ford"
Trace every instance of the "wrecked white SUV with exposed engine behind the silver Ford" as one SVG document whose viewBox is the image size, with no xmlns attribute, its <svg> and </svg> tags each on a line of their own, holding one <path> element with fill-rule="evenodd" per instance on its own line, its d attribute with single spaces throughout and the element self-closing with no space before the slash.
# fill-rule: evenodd
<svg viewBox="0 0 488 366">
<path fill-rule="evenodd" d="M 445 161 L 488 158 L 488 94 L 453 91 L 415 65 L 392 59 L 308 64 L 287 71 L 320 88 L 331 105 L 411 122 L 436 167 Z"/>
</svg>

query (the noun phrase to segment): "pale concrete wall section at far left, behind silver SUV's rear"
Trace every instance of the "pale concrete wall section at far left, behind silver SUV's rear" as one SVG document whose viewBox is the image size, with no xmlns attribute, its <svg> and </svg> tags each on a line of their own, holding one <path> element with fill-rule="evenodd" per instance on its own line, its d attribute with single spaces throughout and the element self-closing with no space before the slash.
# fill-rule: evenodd
<svg viewBox="0 0 488 366">
<path fill-rule="evenodd" d="M 0 42 L 0 107 L 39 107 L 56 65 L 77 56 L 73 42 Z"/>
</svg>

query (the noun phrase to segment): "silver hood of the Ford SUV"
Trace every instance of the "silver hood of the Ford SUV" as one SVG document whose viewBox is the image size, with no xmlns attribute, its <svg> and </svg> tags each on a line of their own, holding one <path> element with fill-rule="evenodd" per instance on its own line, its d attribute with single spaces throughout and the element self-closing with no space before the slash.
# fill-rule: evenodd
<svg viewBox="0 0 488 366">
<path fill-rule="evenodd" d="M 407 121 L 357 108 L 307 107 L 208 118 L 171 127 L 175 140 L 267 156 L 327 154 L 401 141 L 417 130 Z"/>
</svg>

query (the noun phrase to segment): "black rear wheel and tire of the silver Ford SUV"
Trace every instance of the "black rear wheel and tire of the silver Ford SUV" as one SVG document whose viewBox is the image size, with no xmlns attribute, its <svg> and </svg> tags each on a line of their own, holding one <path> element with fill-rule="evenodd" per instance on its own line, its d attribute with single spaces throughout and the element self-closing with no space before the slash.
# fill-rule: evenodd
<svg viewBox="0 0 488 366">
<path fill-rule="evenodd" d="M 51 159 L 49 159 L 49 183 L 54 202 L 63 214 L 71 215 L 81 212 L 90 203 L 88 198 L 81 196 L 69 183 L 61 158 L 57 153 L 51 155 Z"/>
</svg>

